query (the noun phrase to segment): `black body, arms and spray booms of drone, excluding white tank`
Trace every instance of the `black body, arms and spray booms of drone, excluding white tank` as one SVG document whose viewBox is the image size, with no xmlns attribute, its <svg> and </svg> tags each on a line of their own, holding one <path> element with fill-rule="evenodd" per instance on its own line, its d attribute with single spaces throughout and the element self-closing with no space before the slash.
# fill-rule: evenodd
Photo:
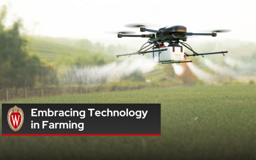
<svg viewBox="0 0 256 160">
<path fill-rule="evenodd" d="M 187 33 L 187 28 L 184 26 L 172 26 L 172 27 L 163 27 L 159 30 L 151 30 L 151 29 L 146 29 L 145 26 L 141 26 L 140 27 L 140 31 L 144 32 L 144 31 L 150 31 L 151 34 L 142 34 L 142 35 L 129 35 L 129 34 L 122 34 L 122 33 L 118 33 L 118 38 L 122 38 L 122 37 L 142 37 L 142 38 L 150 38 L 150 40 L 148 40 L 147 43 L 150 43 L 150 45 L 154 44 L 152 47 L 147 48 L 150 45 L 147 45 L 147 47 L 141 47 L 140 50 L 138 50 L 137 52 L 131 53 L 131 54 L 123 54 L 123 55 L 116 55 L 117 58 L 119 58 L 119 56 L 131 56 L 131 55 L 140 55 L 140 54 L 146 54 L 149 52 L 159 52 L 159 54 L 161 54 L 162 51 L 167 51 L 167 48 L 163 48 L 160 49 L 162 46 L 165 46 L 163 44 L 163 42 L 169 42 L 168 47 L 174 47 L 174 46 L 178 46 L 180 47 L 179 43 L 182 44 L 184 47 L 186 47 L 187 49 L 189 49 L 191 52 L 193 52 L 192 55 L 188 55 L 184 52 L 184 58 L 186 59 L 186 56 L 199 56 L 202 55 L 202 57 L 204 57 L 204 55 L 210 55 L 210 54 L 223 54 L 225 56 L 225 53 L 227 53 L 228 51 L 221 51 L 221 52 L 211 52 L 211 53 L 204 53 L 204 54 L 198 54 L 197 52 L 193 51 L 193 49 L 190 47 L 187 47 L 187 45 L 184 44 L 184 42 L 182 41 L 187 41 L 187 35 L 191 36 L 191 35 L 212 35 L 212 37 L 216 37 L 217 33 L 216 31 L 212 31 L 212 33 Z M 144 45 L 145 45 L 144 44 Z M 143 46 L 144 46 L 143 45 Z M 158 48 L 158 50 L 151 50 L 148 51 L 148 49 L 153 48 Z M 145 49 L 147 48 L 147 49 Z M 142 49 L 145 49 L 145 51 L 141 51 Z M 158 61 L 158 62 L 162 62 L 162 64 L 165 63 L 186 63 L 186 62 L 193 62 L 193 61 Z"/>
</svg>

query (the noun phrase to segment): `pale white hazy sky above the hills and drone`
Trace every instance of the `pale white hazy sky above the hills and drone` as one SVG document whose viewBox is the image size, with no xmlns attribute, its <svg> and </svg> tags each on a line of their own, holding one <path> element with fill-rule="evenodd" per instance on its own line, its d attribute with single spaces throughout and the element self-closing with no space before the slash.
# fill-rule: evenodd
<svg viewBox="0 0 256 160">
<path fill-rule="evenodd" d="M 217 37 L 201 36 L 187 42 L 240 40 L 256 42 L 256 1 L 33 1 L 1 0 L 8 6 L 6 24 L 23 19 L 29 35 L 88 39 L 109 44 L 142 45 L 145 38 L 118 38 L 105 31 L 140 29 L 124 27 L 129 23 L 182 25 L 187 32 L 229 29 Z M 144 33 L 145 34 L 145 33 Z"/>
</svg>

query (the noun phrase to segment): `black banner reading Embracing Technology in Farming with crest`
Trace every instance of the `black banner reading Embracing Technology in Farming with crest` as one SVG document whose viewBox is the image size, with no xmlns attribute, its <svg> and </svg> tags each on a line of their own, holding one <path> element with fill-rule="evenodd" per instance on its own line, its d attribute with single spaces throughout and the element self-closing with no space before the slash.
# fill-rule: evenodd
<svg viewBox="0 0 256 160">
<path fill-rule="evenodd" d="M 2 136 L 161 136 L 161 104 L 2 104 Z"/>
</svg>

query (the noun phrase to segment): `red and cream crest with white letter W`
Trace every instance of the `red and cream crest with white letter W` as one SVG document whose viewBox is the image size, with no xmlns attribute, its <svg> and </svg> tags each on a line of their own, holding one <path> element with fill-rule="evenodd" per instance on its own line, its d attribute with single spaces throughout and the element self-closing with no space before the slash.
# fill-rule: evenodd
<svg viewBox="0 0 256 160">
<path fill-rule="evenodd" d="M 14 106 L 13 108 L 9 109 L 8 123 L 10 128 L 13 131 L 18 131 L 22 127 L 23 120 L 24 120 L 24 113 L 21 108 Z"/>
</svg>

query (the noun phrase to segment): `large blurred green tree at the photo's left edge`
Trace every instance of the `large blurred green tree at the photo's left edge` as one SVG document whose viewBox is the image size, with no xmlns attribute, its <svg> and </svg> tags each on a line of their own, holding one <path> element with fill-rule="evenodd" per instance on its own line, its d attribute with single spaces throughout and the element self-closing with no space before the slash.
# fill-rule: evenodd
<svg viewBox="0 0 256 160">
<path fill-rule="evenodd" d="M 36 55 L 29 55 L 27 41 L 20 34 L 22 20 L 6 29 L 6 6 L 0 10 L 0 88 L 33 87 L 44 65 Z"/>
</svg>

